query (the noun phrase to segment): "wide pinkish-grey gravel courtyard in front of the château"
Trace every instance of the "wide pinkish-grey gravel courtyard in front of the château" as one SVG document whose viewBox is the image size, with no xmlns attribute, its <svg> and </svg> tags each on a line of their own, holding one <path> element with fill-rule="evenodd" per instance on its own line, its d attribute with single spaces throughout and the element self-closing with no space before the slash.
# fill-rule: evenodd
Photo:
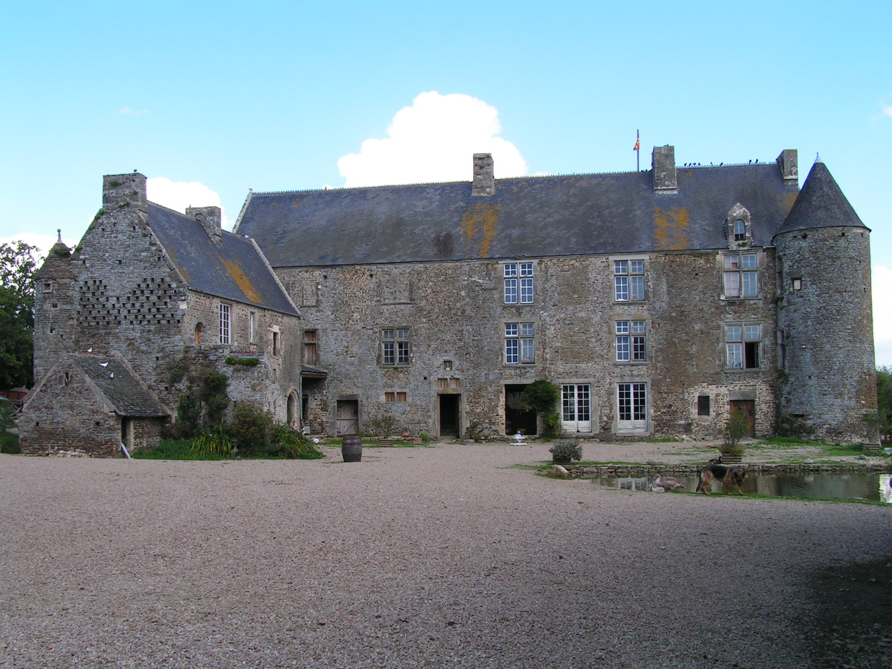
<svg viewBox="0 0 892 669">
<path fill-rule="evenodd" d="M 585 457 L 611 448 L 666 461 L 674 447 Z M 607 491 L 513 467 L 541 445 L 326 454 L 0 456 L 0 666 L 892 659 L 892 508 Z"/>
</svg>

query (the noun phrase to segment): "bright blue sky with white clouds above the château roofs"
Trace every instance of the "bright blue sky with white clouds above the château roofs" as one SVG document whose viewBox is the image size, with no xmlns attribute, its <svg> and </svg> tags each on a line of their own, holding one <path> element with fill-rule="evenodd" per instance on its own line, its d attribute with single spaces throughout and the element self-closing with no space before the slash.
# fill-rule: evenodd
<svg viewBox="0 0 892 669">
<path fill-rule="evenodd" d="M 423 181 L 450 151 L 467 169 L 442 178 L 470 179 L 474 150 L 497 176 L 634 169 L 637 128 L 642 168 L 654 145 L 795 148 L 800 181 L 820 152 L 873 230 L 892 365 L 890 25 L 888 2 L 7 3 L 0 241 L 77 241 L 102 175 L 133 169 L 233 221 L 249 187 Z"/>
</svg>

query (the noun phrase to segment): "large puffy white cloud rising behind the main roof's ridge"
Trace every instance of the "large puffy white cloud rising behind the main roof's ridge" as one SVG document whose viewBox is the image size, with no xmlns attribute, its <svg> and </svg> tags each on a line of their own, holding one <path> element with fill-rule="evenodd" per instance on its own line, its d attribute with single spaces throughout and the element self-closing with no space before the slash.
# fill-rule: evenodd
<svg viewBox="0 0 892 669">
<path fill-rule="evenodd" d="M 367 139 L 337 166 L 344 186 L 470 181 L 472 155 L 492 153 L 496 177 L 525 175 L 520 151 L 500 132 L 499 110 L 490 104 L 431 91 L 396 112 L 385 139 Z"/>
</svg>

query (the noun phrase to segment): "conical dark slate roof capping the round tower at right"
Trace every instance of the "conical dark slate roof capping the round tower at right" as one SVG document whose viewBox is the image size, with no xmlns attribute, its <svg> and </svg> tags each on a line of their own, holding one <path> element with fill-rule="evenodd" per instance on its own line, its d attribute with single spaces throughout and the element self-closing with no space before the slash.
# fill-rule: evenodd
<svg viewBox="0 0 892 669">
<path fill-rule="evenodd" d="M 793 208 L 775 236 L 815 227 L 867 227 L 842 194 L 821 156 L 814 161 Z"/>
</svg>

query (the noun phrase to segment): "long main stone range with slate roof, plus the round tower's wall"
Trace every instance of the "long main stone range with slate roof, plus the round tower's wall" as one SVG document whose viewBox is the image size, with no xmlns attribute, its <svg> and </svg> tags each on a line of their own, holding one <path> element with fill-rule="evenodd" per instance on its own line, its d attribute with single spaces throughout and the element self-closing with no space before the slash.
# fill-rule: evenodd
<svg viewBox="0 0 892 669">
<path fill-rule="evenodd" d="M 305 386 L 314 430 L 361 432 L 389 416 L 413 434 L 529 434 L 541 424 L 519 393 L 548 379 L 562 387 L 566 434 L 716 438 L 740 409 L 756 435 L 792 414 L 815 434 L 861 441 L 876 406 L 870 231 L 855 217 L 807 233 L 807 247 L 801 232 L 775 239 L 797 178 L 795 151 L 767 166 L 681 169 L 664 146 L 648 195 L 639 175 L 500 181 L 491 156 L 475 154 L 465 194 L 449 184 L 252 194 L 237 229 L 257 236 L 313 333 L 313 364 L 328 374 Z M 591 202 L 574 204 L 574 188 Z M 624 198 L 643 202 L 622 204 L 629 219 L 598 209 Z M 576 209 L 563 223 L 565 206 Z M 812 211 L 811 225 L 830 225 L 830 210 Z M 512 241 L 529 232 L 535 240 Z M 318 248 L 291 251 L 289 233 L 316 235 Z M 567 238 L 581 251 L 567 252 Z M 794 265 L 814 278 L 791 297 Z M 513 291 L 527 284 L 525 299 L 506 296 L 508 279 Z M 643 292 L 619 294 L 620 280 Z"/>
</svg>

